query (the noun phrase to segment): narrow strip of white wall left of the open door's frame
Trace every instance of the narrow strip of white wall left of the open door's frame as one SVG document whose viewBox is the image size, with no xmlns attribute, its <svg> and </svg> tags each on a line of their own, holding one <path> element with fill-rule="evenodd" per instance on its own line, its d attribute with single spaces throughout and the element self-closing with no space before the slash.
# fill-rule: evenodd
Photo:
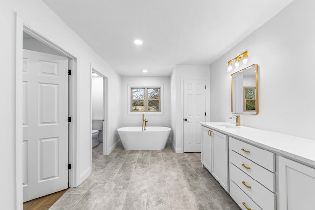
<svg viewBox="0 0 315 210">
<path fill-rule="evenodd" d="M 1 2 L 0 6 L 0 179 L 2 186 L 0 189 L 0 203 L 3 209 L 16 208 L 16 184 L 15 184 L 15 139 L 14 139 L 14 94 L 13 94 L 13 72 L 12 72 L 12 4 L 13 1 Z M 2 171 L 5 170 L 5 171 Z M 21 172 L 22 174 L 22 172 Z"/>
</svg>

